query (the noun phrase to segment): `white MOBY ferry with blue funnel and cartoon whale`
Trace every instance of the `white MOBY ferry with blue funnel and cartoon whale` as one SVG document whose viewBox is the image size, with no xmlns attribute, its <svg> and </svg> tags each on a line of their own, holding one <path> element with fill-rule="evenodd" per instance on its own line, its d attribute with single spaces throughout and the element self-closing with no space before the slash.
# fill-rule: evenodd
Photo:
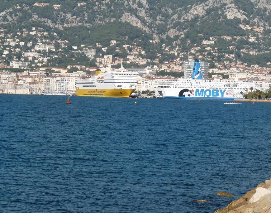
<svg viewBox="0 0 271 213">
<path fill-rule="evenodd" d="M 200 65 L 195 60 L 192 79 L 178 79 L 175 84 L 155 88 L 155 95 L 179 99 L 227 99 L 243 98 L 243 94 L 262 90 L 257 82 L 251 80 L 208 80 L 202 79 Z"/>
</svg>

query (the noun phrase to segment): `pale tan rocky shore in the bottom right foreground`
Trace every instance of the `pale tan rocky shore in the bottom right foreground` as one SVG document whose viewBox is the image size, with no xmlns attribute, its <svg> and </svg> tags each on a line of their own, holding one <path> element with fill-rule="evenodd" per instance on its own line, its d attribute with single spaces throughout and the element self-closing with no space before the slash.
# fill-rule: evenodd
<svg viewBox="0 0 271 213">
<path fill-rule="evenodd" d="M 271 179 L 260 183 L 215 213 L 271 213 Z"/>
</svg>

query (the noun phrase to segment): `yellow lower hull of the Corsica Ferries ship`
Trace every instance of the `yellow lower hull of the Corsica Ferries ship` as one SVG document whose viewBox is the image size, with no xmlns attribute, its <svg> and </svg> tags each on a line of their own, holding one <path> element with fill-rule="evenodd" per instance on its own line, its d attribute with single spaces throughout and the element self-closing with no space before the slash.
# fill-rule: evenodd
<svg viewBox="0 0 271 213">
<path fill-rule="evenodd" d="M 134 89 L 77 89 L 76 95 L 90 97 L 120 97 L 129 98 Z"/>
</svg>

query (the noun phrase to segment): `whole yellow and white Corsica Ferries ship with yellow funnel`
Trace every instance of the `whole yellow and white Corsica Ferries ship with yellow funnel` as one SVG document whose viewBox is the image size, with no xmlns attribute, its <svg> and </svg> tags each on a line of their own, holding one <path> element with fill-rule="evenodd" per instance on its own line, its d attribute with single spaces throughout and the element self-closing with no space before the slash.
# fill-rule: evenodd
<svg viewBox="0 0 271 213">
<path fill-rule="evenodd" d="M 76 82 L 76 95 L 92 97 L 129 98 L 135 91 L 137 72 L 120 70 L 102 73 L 96 71 L 95 77 Z"/>
</svg>

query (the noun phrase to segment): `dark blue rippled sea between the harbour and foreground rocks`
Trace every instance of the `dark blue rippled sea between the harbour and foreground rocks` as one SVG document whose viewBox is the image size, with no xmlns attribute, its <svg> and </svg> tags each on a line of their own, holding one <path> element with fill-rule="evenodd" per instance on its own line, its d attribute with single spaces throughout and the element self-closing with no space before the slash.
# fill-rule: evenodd
<svg viewBox="0 0 271 213">
<path fill-rule="evenodd" d="M 0 95 L 0 212 L 214 212 L 271 177 L 271 104 L 66 98 Z"/>
</svg>

